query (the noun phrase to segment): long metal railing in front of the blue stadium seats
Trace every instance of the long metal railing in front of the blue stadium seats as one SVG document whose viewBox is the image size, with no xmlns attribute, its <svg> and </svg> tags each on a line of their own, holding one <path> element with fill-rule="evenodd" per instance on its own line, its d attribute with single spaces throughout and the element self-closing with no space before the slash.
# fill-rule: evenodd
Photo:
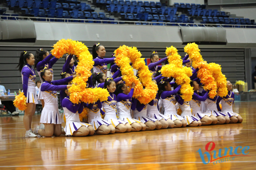
<svg viewBox="0 0 256 170">
<path fill-rule="evenodd" d="M 3 16 L 1 20 L 33 20 L 36 22 L 65 22 L 65 23 L 94 23 L 94 24 L 117 24 L 117 25 L 140 25 L 140 26 L 179 26 L 179 27 L 220 27 L 220 28 L 256 28 L 256 25 L 227 25 L 222 23 L 182 23 L 182 22 L 152 22 L 152 21 L 126 21 L 126 20 L 103 20 L 103 19 L 75 19 L 75 18 L 49 18 L 29 16 Z M 4 18 L 4 19 L 3 19 Z"/>
</svg>

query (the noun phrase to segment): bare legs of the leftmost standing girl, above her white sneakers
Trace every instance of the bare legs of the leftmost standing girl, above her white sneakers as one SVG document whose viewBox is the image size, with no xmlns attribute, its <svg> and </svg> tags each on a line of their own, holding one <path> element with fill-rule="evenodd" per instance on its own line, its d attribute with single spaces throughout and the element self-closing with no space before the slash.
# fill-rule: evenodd
<svg viewBox="0 0 256 170">
<path fill-rule="evenodd" d="M 26 104 L 27 104 L 27 108 L 25 109 L 23 124 L 26 131 L 28 131 L 29 129 L 31 129 L 32 118 L 33 118 L 33 115 L 35 114 L 35 104 L 33 103 L 26 103 Z"/>
</svg>

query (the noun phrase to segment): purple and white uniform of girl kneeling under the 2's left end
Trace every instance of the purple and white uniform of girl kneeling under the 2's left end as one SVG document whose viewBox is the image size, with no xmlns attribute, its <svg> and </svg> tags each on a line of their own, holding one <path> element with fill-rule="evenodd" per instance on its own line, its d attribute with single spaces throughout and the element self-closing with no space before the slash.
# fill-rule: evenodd
<svg viewBox="0 0 256 170">
<path fill-rule="evenodd" d="M 79 114 L 83 110 L 83 102 L 79 104 L 73 104 L 70 101 L 69 96 L 66 96 L 62 101 L 62 107 L 66 117 L 66 127 L 64 131 L 67 135 L 73 135 L 73 132 L 77 131 L 81 126 L 91 126 L 90 124 L 82 123 L 79 119 Z"/>
</svg>

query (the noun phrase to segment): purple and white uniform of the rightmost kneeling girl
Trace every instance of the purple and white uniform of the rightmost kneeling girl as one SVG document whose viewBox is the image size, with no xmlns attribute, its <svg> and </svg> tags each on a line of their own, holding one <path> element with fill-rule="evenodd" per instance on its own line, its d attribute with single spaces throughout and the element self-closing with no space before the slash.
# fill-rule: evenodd
<svg viewBox="0 0 256 170">
<path fill-rule="evenodd" d="M 217 108 L 219 107 L 220 101 L 222 105 L 222 110 L 221 110 L 222 113 L 224 113 L 228 117 L 240 116 L 240 114 L 233 112 L 234 93 L 232 91 L 228 91 L 227 95 L 223 98 L 219 96 L 216 103 Z M 218 108 L 218 110 L 220 110 L 220 108 Z"/>
</svg>

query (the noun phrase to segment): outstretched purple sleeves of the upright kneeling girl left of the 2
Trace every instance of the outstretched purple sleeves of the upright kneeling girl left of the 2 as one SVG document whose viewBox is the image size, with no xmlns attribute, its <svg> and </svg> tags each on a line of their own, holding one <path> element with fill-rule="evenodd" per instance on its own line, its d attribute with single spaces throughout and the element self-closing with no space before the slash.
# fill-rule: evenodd
<svg viewBox="0 0 256 170">
<path fill-rule="evenodd" d="M 71 80 L 73 80 L 73 76 L 70 76 L 70 77 L 67 77 L 67 78 L 61 79 L 61 80 L 54 80 L 54 81 L 51 81 L 51 82 L 45 81 L 46 83 L 42 83 L 42 85 L 41 85 L 41 91 L 66 90 L 67 85 L 62 85 L 62 84 L 70 82 Z"/>
</svg>

